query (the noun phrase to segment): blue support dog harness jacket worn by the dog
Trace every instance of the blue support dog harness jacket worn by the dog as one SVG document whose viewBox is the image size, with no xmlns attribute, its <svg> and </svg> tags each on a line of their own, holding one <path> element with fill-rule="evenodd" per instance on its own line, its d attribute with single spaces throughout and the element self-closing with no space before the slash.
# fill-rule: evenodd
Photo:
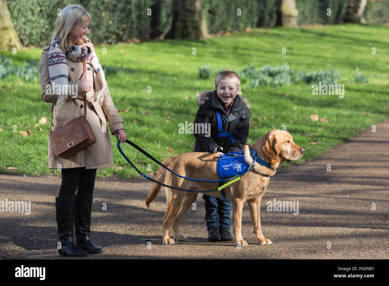
<svg viewBox="0 0 389 286">
<path fill-rule="evenodd" d="M 255 150 L 252 149 L 250 151 L 250 154 L 252 156 L 253 162 L 257 162 L 267 168 L 270 168 L 270 163 L 265 162 L 258 158 L 257 154 L 255 153 Z M 230 155 L 230 156 L 228 156 Z M 228 177 L 234 177 L 234 176 L 242 176 L 247 171 L 249 171 L 250 167 L 252 166 L 247 164 L 247 162 L 244 160 L 244 152 L 238 151 L 233 153 L 228 153 L 228 155 L 220 154 L 220 157 L 217 159 L 216 163 L 216 171 L 217 174 L 220 176 L 220 179 L 223 180 L 224 178 Z M 269 175 L 263 175 L 264 177 L 269 177 Z M 224 200 L 227 200 L 226 193 L 224 192 L 224 189 L 221 191 L 221 195 L 223 196 Z"/>
</svg>

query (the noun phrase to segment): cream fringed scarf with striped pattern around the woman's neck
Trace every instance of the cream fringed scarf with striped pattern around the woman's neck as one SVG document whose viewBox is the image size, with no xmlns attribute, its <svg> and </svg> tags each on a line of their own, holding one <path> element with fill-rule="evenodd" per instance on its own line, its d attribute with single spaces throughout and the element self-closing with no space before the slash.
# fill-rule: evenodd
<svg viewBox="0 0 389 286">
<path fill-rule="evenodd" d="M 68 97 L 67 87 L 69 84 L 69 69 L 67 58 L 77 62 L 90 60 L 93 70 L 93 81 L 96 88 L 93 91 L 95 101 L 98 101 L 100 105 L 102 105 L 104 99 L 110 96 L 107 81 L 105 81 L 105 75 L 100 62 L 98 61 L 95 50 L 93 49 L 93 44 L 86 35 L 83 37 L 88 41 L 88 43 L 80 46 L 68 46 L 70 51 L 66 54 L 62 51 L 60 43 L 56 38 L 53 37 L 49 44 L 50 47 L 47 61 L 49 64 L 50 82 L 53 87 L 52 90 L 54 90 L 55 94 L 58 95 L 58 99 L 55 104 L 56 110 L 61 109 Z M 82 87 L 80 86 L 79 88 Z"/>
</svg>

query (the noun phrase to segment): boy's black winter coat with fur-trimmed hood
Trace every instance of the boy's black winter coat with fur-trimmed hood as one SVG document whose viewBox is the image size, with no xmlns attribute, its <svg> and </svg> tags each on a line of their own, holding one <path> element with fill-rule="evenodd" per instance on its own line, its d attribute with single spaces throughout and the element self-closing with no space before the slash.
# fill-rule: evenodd
<svg viewBox="0 0 389 286">
<path fill-rule="evenodd" d="M 247 98 L 241 98 L 237 95 L 231 106 L 231 111 L 228 115 L 224 112 L 223 106 L 219 97 L 217 96 L 216 89 L 214 91 L 205 91 L 201 93 L 197 98 L 197 103 L 200 105 L 196 118 L 196 123 L 208 124 L 210 123 L 210 136 L 206 134 L 196 134 L 195 149 L 193 152 L 209 152 L 212 153 L 216 147 L 222 147 L 226 153 L 237 152 L 243 149 L 246 144 L 247 137 L 249 135 L 250 126 L 250 107 Z M 232 136 L 236 140 L 235 143 L 231 143 L 228 137 L 221 137 L 216 139 L 219 134 L 216 109 L 219 109 L 222 123 L 227 117 L 226 122 L 223 125 L 223 132 L 231 132 Z M 207 125 L 208 126 L 208 125 Z M 195 128 L 196 129 L 196 128 Z M 237 133 L 235 134 L 235 130 Z M 209 133 L 208 133 L 209 134 Z"/>
</svg>

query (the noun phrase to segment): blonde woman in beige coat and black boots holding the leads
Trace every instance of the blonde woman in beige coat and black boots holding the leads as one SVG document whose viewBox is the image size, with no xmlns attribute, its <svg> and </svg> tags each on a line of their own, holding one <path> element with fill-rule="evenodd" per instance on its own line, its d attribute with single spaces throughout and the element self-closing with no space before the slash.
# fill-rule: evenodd
<svg viewBox="0 0 389 286">
<path fill-rule="evenodd" d="M 39 63 L 42 100 L 52 103 L 52 130 L 84 115 L 84 108 L 87 108 L 86 119 L 96 137 L 95 143 L 67 159 L 54 155 L 49 140 L 49 168 L 58 168 L 62 174 L 60 192 L 55 200 L 61 242 L 58 253 L 61 256 L 103 252 L 90 238 L 90 225 L 96 168 L 114 165 L 106 118 L 112 135 L 117 140 L 119 135 L 120 143 L 126 140 L 123 119 L 110 97 L 93 44 L 86 37 L 90 22 L 91 17 L 81 5 L 65 7 L 55 22 L 53 37 L 43 48 Z M 82 61 L 86 61 L 85 73 Z M 87 106 L 83 106 L 84 92 Z"/>
</svg>

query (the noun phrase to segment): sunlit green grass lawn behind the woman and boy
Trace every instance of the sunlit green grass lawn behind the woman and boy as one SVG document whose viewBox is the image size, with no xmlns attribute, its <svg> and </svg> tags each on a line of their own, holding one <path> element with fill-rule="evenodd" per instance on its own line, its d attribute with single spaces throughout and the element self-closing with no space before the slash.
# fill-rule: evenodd
<svg viewBox="0 0 389 286">
<path fill-rule="evenodd" d="M 242 85 L 243 96 L 252 105 L 248 143 L 285 125 L 294 142 L 305 148 L 303 159 L 284 162 L 283 166 L 288 166 L 311 160 L 388 117 L 387 34 L 387 26 L 352 24 L 254 29 L 204 42 L 162 40 L 100 45 L 95 50 L 102 65 L 123 65 L 127 69 L 107 75 L 110 94 L 120 109 L 127 138 L 160 161 L 193 151 L 195 137 L 180 134 L 179 123 L 193 122 L 198 109 L 197 91 L 214 89 L 214 75 L 210 79 L 200 79 L 198 75 L 203 64 L 212 67 L 214 72 L 220 68 L 240 72 L 250 64 L 261 67 L 284 63 L 294 70 L 307 72 L 340 70 L 342 77 L 338 84 L 345 85 L 344 98 L 312 95 L 312 84 L 305 82 L 256 89 Z M 93 35 L 89 37 L 93 41 Z M 102 54 L 103 47 L 106 54 Z M 193 47 L 196 54 L 192 54 Z M 286 54 L 281 53 L 282 47 L 286 47 Z M 376 48 L 375 55 L 371 54 L 372 47 Z M 41 52 L 39 48 L 24 49 L 16 55 L 4 51 L 0 54 L 23 65 L 28 59 L 39 61 Z M 356 68 L 369 77 L 368 83 L 355 82 Z M 50 104 L 41 99 L 39 77 L 35 82 L 26 82 L 11 76 L 0 79 L 0 86 L 0 173 L 60 176 L 59 171 L 47 168 L 51 113 Z M 147 93 L 148 86 L 151 93 Z M 129 111 L 123 112 L 125 109 Z M 312 121 L 312 114 L 325 119 Z M 41 117 L 47 117 L 47 124 L 35 127 Z M 12 132 L 13 125 L 17 126 L 17 132 Z M 32 133 L 26 137 L 19 133 L 30 129 Z M 117 150 L 115 137 L 111 136 L 111 140 L 115 166 L 98 169 L 96 177 L 137 176 Z M 124 143 L 121 148 L 142 172 L 155 174 L 158 170 L 156 163 L 130 145 Z M 151 164 L 151 171 L 147 170 L 147 164 Z"/>
</svg>

